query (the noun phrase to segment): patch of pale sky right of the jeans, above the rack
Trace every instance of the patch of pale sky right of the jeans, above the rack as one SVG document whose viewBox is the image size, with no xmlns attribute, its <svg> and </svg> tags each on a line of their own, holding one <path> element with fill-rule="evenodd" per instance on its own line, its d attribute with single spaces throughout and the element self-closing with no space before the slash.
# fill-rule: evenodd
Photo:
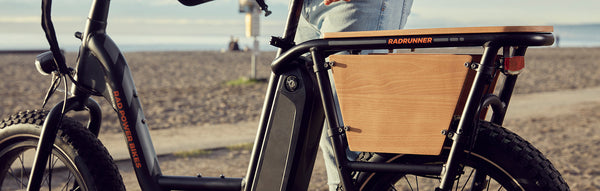
<svg viewBox="0 0 600 191">
<path fill-rule="evenodd" d="M 598 0 L 415 0 L 407 27 L 600 23 Z"/>
</svg>

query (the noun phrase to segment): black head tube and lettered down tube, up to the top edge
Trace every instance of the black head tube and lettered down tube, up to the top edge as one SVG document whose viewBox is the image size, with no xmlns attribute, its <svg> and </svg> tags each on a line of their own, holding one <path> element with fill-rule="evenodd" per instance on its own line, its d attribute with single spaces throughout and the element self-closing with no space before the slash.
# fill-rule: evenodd
<svg viewBox="0 0 600 191">
<path fill-rule="evenodd" d="M 92 3 L 77 61 L 76 79 L 81 79 L 81 86 L 101 92 L 117 112 L 140 187 L 161 190 L 157 181 L 161 176 L 158 158 L 131 71 L 105 32 L 109 5 L 110 1 L 105 0 Z M 76 97 L 86 96 L 85 91 L 74 91 Z"/>
</svg>

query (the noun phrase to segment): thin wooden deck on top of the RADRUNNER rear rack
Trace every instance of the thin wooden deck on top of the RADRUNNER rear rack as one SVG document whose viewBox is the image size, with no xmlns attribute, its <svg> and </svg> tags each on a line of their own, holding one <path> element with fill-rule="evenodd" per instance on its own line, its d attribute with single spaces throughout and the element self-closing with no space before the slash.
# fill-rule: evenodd
<svg viewBox="0 0 600 191">
<path fill-rule="evenodd" d="M 323 38 L 350 38 L 350 37 L 381 37 L 405 35 L 440 35 L 440 34 L 476 34 L 476 33 L 515 33 L 553 32 L 552 26 L 494 26 L 494 27 L 459 27 L 459 28 L 431 28 L 431 29 L 404 29 L 382 31 L 357 31 L 357 32 L 331 32 L 325 33 Z"/>
</svg>

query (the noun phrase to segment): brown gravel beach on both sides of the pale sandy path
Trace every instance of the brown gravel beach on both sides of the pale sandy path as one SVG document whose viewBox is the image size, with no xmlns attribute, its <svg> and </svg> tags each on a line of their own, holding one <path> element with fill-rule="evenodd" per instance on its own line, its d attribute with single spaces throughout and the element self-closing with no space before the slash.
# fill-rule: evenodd
<svg viewBox="0 0 600 191">
<path fill-rule="evenodd" d="M 472 50 L 466 50 L 469 51 Z M 72 62 L 75 56 L 69 53 L 67 60 Z M 273 56 L 274 53 L 263 53 L 259 57 L 259 77 L 268 77 Z M 49 77 L 35 71 L 34 57 L 34 54 L 0 54 L 0 116 L 41 106 Z M 125 57 L 152 129 L 256 121 L 259 116 L 265 83 L 225 85 L 226 81 L 248 75 L 249 53 L 133 52 Z M 515 93 L 597 87 L 598 74 L 600 48 L 532 48 L 528 50 L 526 70 L 519 77 Z M 58 97 L 52 101 L 56 102 Z M 112 109 L 106 101 L 97 100 L 103 105 L 103 133 L 119 132 Z M 507 119 L 505 126 L 542 150 L 573 190 L 598 190 L 600 103 L 589 103 L 582 108 L 577 113 L 553 118 Z M 163 172 L 169 175 L 195 175 L 202 171 L 205 176 L 242 176 L 248 152 L 217 150 L 202 156 L 162 156 L 160 160 Z M 224 166 L 216 165 L 224 161 Z M 188 164 L 193 164 L 193 168 Z M 311 190 L 323 188 L 323 172 L 323 168 L 315 168 L 317 176 L 313 179 L 318 183 Z M 135 190 L 135 181 L 127 178 L 126 181 Z"/>
</svg>

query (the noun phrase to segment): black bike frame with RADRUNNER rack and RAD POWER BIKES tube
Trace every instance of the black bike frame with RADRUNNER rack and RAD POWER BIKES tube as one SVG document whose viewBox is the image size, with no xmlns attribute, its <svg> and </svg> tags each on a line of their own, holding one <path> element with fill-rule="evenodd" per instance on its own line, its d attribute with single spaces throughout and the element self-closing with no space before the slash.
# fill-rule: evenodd
<svg viewBox="0 0 600 191">
<path fill-rule="evenodd" d="M 504 56 L 508 56 L 508 47 L 518 47 L 512 54 L 522 56 L 527 46 L 553 43 L 551 33 L 498 33 L 318 39 L 292 46 L 302 2 L 292 1 L 284 36 L 276 39 L 283 48 L 279 49 L 278 56 L 271 65 L 273 73 L 269 80 L 248 173 L 243 179 L 165 176 L 161 173 L 129 67 L 116 44 L 105 33 L 108 0 L 94 0 L 92 4 L 77 60 L 76 79 L 79 86 L 86 88 L 78 87 L 74 90 L 75 96 L 67 100 L 66 110 L 89 110 L 93 117 L 88 126 L 97 133 L 100 126 L 99 107 L 96 102 L 90 101 L 92 93 L 85 89 L 100 92 L 101 96 L 111 103 L 121 122 L 132 165 L 142 190 L 306 190 L 325 119 L 330 127 L 328 134 L 333 143 L 344 190 L 356 190 L 350 177 L 352 171 L 442 175 L 440 189 L 447 190 L 452 186 L 452 177 L 457 174 L 458 164 L 464 154 L 458 151 L 469 146 L 469 135 L 476 127 L 479 112 L 483 107 L 481 103 L 487 103 L 494 108 L 493 122 L 501 124 L 504 119 L 504 110 L 509 103 L 516 75 L 505 79 L 500 97 L 483 96 L 490 79 L 498 70 L 495 63 L 498 50 L 504 47 Z M 399 37 L 431 38 L 432 42 L 388 43 L 390 39 Z M 344 50 L 466 46 L 484 46 L 485 50 L 455 130 L 456 135 L 453 137 L 452 149 L 445 166 L 347 160 L 347 141 L 343 128 L 338 124 L 340 119 L 337 119 L 334 96 L 327 75 L 328 67 L 325 63 L 327 56 Z M 287 50 L 289 47 L 291 48 Z M 306 53 L 310 53 L 312 60 L 301 58 Z M 47 158 L 51 141 L 54 140 L 60 126 L 62 113 L 58 108 L 62 108 L 62 105 L 54 106 L 43 126 L 29 190 L 39 188 L 46 164 L 44 158 Z"/>
</svg>

